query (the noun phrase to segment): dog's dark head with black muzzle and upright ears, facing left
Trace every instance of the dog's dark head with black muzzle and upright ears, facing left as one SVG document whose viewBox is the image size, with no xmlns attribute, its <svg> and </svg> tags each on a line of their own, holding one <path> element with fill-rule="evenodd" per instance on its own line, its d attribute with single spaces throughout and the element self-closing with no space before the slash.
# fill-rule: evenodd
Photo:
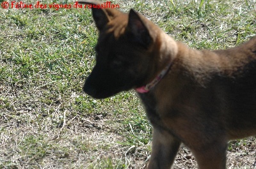
<svg viewBox="0 0 256 169">
<path fill-rule="evenodd" d="M 157 67 L 153 56 L 155 48 L 159 48 L 156 32 L 160 29 L 134 10 L 123 13 L 112 8 L 92 8 L 92 14 L 99 30 L 96 64 L 83 91 L 93 98 L 107 98 L 152 80 Z"/>
</svg>

